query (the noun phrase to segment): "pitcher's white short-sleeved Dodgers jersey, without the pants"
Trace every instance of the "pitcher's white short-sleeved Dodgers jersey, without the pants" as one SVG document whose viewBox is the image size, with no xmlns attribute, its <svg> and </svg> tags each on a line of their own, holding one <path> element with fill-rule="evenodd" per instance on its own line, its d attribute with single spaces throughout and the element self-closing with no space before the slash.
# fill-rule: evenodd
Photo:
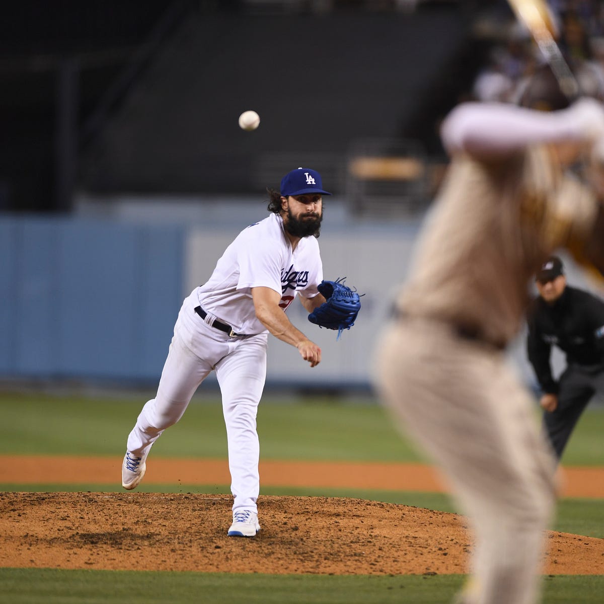
<svg viewBox="0 0 604 604">
<path fill-rule="evenodd" d="M 197 288 L 197 296 L 206 312 L 236 333 L 263 333 L 266 328 L 256 318 L 251 288 L 274 289 L 281 294 L 279 306 L 286 310 L 297 294 L 315 297 L 322 280 L 316 237 L 303 237 L 292 251 L 283 219 L 271 214 L 239 233 L 208 281 Z"/>
</svg>

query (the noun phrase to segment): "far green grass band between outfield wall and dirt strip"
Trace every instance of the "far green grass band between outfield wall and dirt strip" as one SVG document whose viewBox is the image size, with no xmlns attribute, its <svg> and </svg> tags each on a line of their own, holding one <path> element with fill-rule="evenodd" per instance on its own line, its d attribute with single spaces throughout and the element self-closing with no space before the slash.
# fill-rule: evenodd
<svg viewBox="0 0 604 604">
<path fill-rule="evenodd" d="M 0 394 L 0 454 L 121 455 L 145 399 L 85 399 Z M 379 405 L 266 396 L 258 414 L 263 459 L 425 461 Z M 604 465 L 604 408 L 588 408 L 564 464 Z M 226 457 L 222 408 L 215 394 L 196 397 L 154 445 L 162 457 Z"/>
</svg>

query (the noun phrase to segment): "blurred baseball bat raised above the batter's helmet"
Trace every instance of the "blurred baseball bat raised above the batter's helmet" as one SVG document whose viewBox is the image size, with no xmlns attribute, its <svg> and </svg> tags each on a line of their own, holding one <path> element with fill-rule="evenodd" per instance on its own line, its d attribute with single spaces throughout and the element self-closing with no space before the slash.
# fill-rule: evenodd
<svg viewBox="0 0 604 604">
<path fill-rule="evenodd" d="M 554 20 L 545 0 L 507 0 L 516 19 L 527 27 L 551 68 L 562 93 L 571 101 L 579 96 L 579 83 L 556 43 Z"/>
</svg>

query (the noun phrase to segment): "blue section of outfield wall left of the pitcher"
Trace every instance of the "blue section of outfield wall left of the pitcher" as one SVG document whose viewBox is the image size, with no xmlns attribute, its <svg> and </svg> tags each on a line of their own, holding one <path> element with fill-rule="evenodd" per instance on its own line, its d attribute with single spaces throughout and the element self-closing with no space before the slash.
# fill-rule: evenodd
<svg viewBox="0 0 604 604">
<path fill-rule="evenodd" d="M 0 376 L 155 380 L 182 300 L 183 237 L 0 217 Z"/>
</svg>

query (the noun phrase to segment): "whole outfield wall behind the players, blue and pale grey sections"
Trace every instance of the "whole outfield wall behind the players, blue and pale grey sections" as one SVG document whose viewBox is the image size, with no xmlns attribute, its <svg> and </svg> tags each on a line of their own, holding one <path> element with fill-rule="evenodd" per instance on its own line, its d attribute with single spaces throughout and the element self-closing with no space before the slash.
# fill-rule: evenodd
<svg viewBox="0 0 604 604">
<path fill-rule="evenodd" d="M 155 384 L 182 299 L 209 277 L 245 220 L 184 226 L 0 217 L 0 378 Z M 310 324 L 301 304 L 292 304 L 289 317 L 320 344 L 323 362 L 310 369 L 297 350 L 271 338 L 269 386 L 369 387 L 376 339 L 406 277 L 418 228 L 419 220 L 324 225 L 324 275 L 347 277 L 365 294 L 361 313 L 336 341 L 336 332 Z M 590 287 L 568 268 L 571 283 Z M 523 335 L 510 361 L 534 383 Z M 554 356 L 554 368 L 561 364 Z"/>
</svg>

